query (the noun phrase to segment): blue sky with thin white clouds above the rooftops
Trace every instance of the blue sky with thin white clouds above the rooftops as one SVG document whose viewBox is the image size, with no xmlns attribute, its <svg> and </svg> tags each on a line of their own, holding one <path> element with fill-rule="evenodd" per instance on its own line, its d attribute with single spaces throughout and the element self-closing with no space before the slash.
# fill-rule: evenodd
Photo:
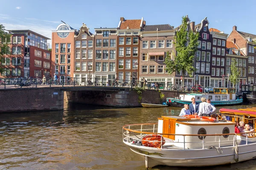
<svg viewBox="0 0 256 170">
<path fill-rule="evenodd" d="M 177 27 L 188 15 L 195 24 L 207 17 L 209 28 L 226 34 L 235 25 L 256 34 L 255 6 L 256 0 L 0 0 L 0 23 L 6 30 L 29 29 L 51 39 L 61 20 L 75 29 L 85 23 L 94 33 L 94 28 L 116 28 L 120 17 Z"/>
</svg>

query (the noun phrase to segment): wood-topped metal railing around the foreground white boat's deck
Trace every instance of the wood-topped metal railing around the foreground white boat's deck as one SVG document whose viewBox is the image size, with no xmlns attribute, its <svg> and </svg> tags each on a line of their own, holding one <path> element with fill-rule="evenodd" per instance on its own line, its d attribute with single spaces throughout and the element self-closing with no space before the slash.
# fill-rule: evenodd
<svg viewBox="0 0 256 170">
<path fill-rule="evenodd" d="M 161 136 L 160 141 L 153 141 L 153 142 L 160 143 L 160 147 L 157 147 L 158 149 L 163 149 L 163 147 L 166 149 L 166 147 L 168 147 L 168 146 L 172 146 L 174 144 L 181 144 L 181 145 L 183 145 L 184 150 L 189 149 L 189 148 L 186 148 L 186 144 L 200 144 L 202 147 L 196 147 L 194 149 L 205 149 L 205 146 L 209 147 L 209 146 L 212 146 L 212 145 L 214 145 L 215 147 L 219 147 L 219 148 L 227 147 L 227 144 L 229 146 L 233 145 L 233 147 L 240 146 L 240 145 L 245 145 L 245 144 L 248 144 L 248 140 L 249 140 L 249 142 L 256 142 L 256 140 L 250 141 L 250 139 L 255 139 L 255 136 L 247 136 L 246 135 L 247 133 L 254 133 L 255 134 L 256 132 L 224 133 L 224 134 L 157 133 L 157 125 L 158 125 L 158 123 L 144 123 L 144 124 L 125 125 L 125 126 L 122 127 L 122 129 L 123 129 L 123 140 L 125 142 L 130 142 L 130 143 L 133 143 L 133 144 L 142 145 L 141 143 L 143 141 L 144 142 L 152 142 L 150 140 L 143 139 L 145 136 L 160 135 Z M 146 128 L 144 128 L 144 126 L 146 126 Z M 133 127 L 135 127 L 135 128 L 133 128 Z M 180 141 L 175 141 L 175 140 L 170 140 L 169 141 L 167 138 L 163 138 L 163 136 L 183 136 L 183 141 L 181 141 L 181 142 Z M 187 136 L 200 137 L 201 142 L 186 141 Z M 205 138 L 207 136 L 215 136 L 215 139 L 213 141 L 205 141 Z M 228 139 L 225 138 L 225 140 L 221 140 L 221 136 L 230 136 L 230 137 Z M 233 138 L 231 138 L 231 136 L 233 136 Z M 241 136 L 241 138 L 237 139 L 237 136 Z M 163 139 L 165 139 L 165 140 L 163 140 Z M 165 142 L 164 146 L 162 144 L 163 142 Z M 237 144 L 238 142 L 240 142 L 240 143 Z M 199 146 L 199 145 L 197 145 L 197 146 Z M 192 148 L 190 148 L 190 149 L 192 149 Z"/>
</svg>

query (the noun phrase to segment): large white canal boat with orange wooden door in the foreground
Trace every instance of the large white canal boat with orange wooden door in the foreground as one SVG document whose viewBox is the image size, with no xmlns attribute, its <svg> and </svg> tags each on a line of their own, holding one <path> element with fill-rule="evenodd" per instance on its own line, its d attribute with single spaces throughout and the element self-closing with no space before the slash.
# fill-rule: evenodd
<svg viewBox="0 0 256 170">
<path fill-rule="evenodd" d="M 146 168 L 213 166 L 255 158 L 256 137 L 234 133 L 234 125 L 221 116 L 162 116 L 158 123 L 123 126 L 123 142 L 145 157 Z"/>
</svg>

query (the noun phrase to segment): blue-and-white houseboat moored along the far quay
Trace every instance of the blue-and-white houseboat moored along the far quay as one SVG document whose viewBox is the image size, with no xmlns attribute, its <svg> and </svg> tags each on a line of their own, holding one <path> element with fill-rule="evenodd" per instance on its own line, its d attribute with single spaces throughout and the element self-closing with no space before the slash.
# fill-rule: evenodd
<svg viewBox="0 0 256 170">
<path fill-rule="evenodd" d="M 169 106 L 184 107 L 184 104 L 190 104 L 191 98 L 195 98 L 195 102 L 201 103 L 201 98 L 211 99 L 211 103 L 215 106 L 224 105 L 240 105 L 243 99 L 236 98 L 235 88 L 214 88 L 213 94 L 209 93 L 190 93 L 180 94 L 176 98 L 166 98 L 166 103 Z"/>
</svg>

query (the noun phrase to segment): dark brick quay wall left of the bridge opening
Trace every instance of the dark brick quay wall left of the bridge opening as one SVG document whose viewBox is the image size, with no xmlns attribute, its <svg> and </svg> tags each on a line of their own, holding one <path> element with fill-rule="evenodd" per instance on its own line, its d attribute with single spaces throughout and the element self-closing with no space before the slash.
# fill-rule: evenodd
<svg viewBox="0 0 256 170">
<path fill-rule="evenodd" d="M 63 91 L 60 88 L 1 89 L 0 98 L 0 113 L 64 108 Z"/>
</svg>

